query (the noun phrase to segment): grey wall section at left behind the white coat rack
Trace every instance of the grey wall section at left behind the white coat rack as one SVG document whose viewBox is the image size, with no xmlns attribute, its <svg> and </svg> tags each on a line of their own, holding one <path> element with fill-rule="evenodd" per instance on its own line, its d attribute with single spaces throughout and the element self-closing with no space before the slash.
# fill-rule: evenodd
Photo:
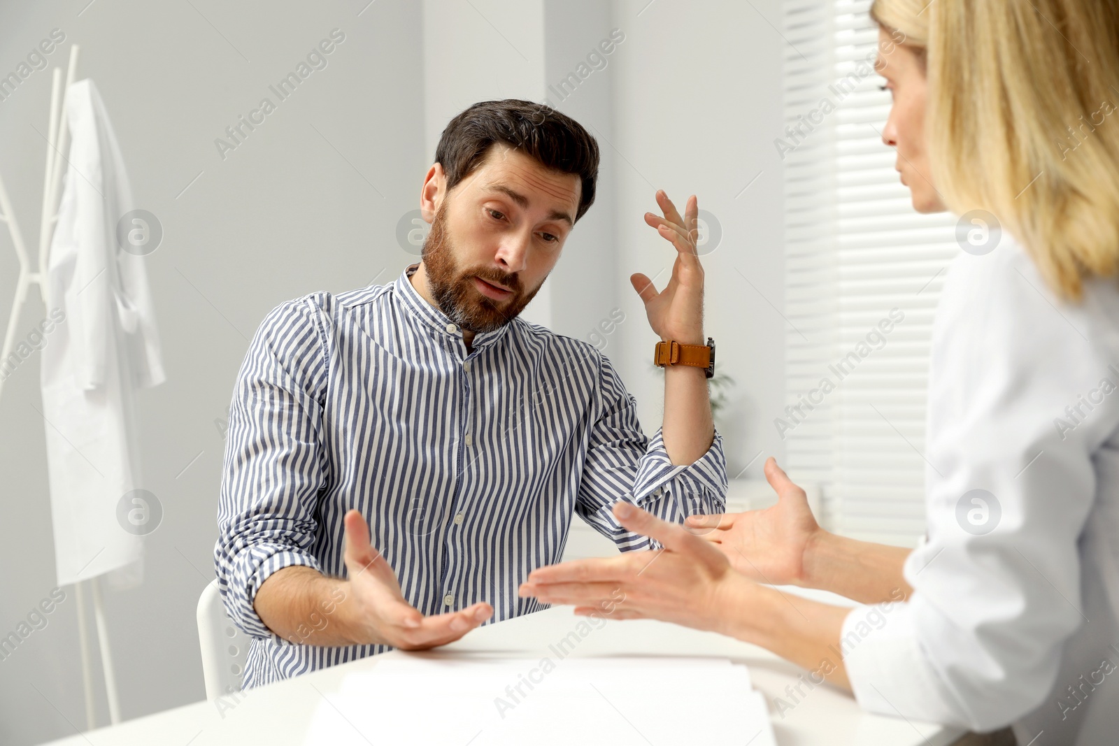
<svg viewBox="0 0 1119 746">
<path fill-rule="evenodd" d="M 286 299 L 348 290 L 382 271 L 384 281 L 411 258 L 395 227 L 414 206 L 430 158 L 419 126 L 421 9 L 407 0 L 377 0 L 360 16 L 366 2 L 339 0 L 87 3 L 0 4 L 0 70 L 13 69 L 55 27 L 66 43 L 53 64 L 65 65 L 69 44 L 81 44 L 79 73 L 101 89 L 133 192 L 164 229 L 148 273 L 168 381 L 139 397 L 144 487 L 164 516 L 147 542 L 144 585 L 106 593 L 122 710 L 134 718 L 204 696 L 194 618 L 214 577 L 224 447 L 215 419 L 225 415 L 257 324 Z M 336 27 L 346 40 L 327 67 L 222 160 L 214 140 Z M 37 233 L 46 148 L 36 129 L 46 132 L 49 95 L 50 75 L 41 70 L 0 102 L 0 173 L 28 238 Z M 4 322 L 15 282 L 8 244 L 0 230 Z M 18 329 L 26 333 L 41 318 L 32 293 Z M 0 635 L 54 587 L 38 403 L 34 358 L 0 398 Z M 2 744 L 70 735 L 68 721 L 84 727 L 76 604 L 67 591 L 48 625 L 0 660 Z M 105 724 L 100 692 L 97 701 Z"/>
</svg>

